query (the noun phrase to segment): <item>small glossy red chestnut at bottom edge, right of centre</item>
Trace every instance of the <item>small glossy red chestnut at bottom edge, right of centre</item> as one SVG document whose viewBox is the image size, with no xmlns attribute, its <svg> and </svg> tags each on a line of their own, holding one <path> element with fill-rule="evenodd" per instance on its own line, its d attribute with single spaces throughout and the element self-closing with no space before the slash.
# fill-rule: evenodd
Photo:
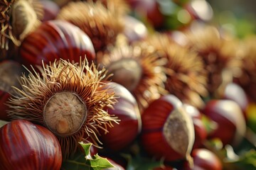
<svg viewBox="0 0 256 170">
<path fill-rule="evenodd" d="M 209 149 L 198 148 L 193 149 L 191 156 L 193 158 L 193 166 L 189 166 L 185 162 L 183 170 L 222 170 L 223 165 L 216 154 Z"/>
</svg>

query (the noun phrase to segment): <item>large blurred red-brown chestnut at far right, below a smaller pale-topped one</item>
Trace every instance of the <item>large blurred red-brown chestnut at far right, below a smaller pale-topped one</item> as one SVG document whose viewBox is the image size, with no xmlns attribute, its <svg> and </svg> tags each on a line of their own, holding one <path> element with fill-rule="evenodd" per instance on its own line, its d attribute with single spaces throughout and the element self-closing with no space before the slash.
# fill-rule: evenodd
<svg viewBox="0 0 256 170">
<path fill-rule="evenodd" d="M 246 124 L 242 110 L 235 101 L 221 99 L 210 100 L 202 113 L 217 123 L 215 130 L 208 137 L 219 138 L 223 145 L 238 145 L 245 136 Z"/>
</svg>

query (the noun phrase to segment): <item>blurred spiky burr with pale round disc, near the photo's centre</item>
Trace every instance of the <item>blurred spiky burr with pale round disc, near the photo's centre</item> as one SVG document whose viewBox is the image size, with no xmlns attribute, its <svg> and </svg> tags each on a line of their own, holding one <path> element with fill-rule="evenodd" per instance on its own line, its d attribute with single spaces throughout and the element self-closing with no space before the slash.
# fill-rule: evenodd
<svg viewBox="0 0 256 170">
<path fill-rule="evenodd" d="M 112 81 L 122 84 L 134 95 L 141 110 L 167 93 L 163 70 L 166 60 L 159 58 L 153 46 L 144 42 L 120 45 L 99 57 L 98 62 L 113 74 Z"/>
</svg>

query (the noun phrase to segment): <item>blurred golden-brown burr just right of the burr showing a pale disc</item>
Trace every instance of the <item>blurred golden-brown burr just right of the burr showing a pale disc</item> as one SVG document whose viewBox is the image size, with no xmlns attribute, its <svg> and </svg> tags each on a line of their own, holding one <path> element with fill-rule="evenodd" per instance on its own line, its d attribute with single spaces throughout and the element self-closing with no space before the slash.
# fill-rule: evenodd
<svg viewBox="0 0 256 170">
<path fill-rule="evenodd" d="M 186 47 L 181 47 L 169 35 L 157 33 L 149 36 L 147 43 L 153 45 L 159 56 L 166 58 L 164 65 L 166 74 L 165 89 L 181 101 L 197 108 L 203 107 L 201 96 L 207 96 L 206 70 L 203 61 Z"/>
</svg>

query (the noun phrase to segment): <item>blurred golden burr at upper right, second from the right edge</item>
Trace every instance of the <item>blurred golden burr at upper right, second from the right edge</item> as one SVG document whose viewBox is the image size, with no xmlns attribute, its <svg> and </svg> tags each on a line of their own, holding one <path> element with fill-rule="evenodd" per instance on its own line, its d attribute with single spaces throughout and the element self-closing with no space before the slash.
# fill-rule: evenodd
<svg viewBox="0 0 256 170">
<path fill-rule="evenodd" d="M 207 89 L 214 95 L 222 84 L 233 81 L 240 72 L 238 40 L 220 33 L 214 26 L 195 28 L 188 31 L 186 37 L 187 46 L 203 60 L 208 74 Z"/>
</svg>

